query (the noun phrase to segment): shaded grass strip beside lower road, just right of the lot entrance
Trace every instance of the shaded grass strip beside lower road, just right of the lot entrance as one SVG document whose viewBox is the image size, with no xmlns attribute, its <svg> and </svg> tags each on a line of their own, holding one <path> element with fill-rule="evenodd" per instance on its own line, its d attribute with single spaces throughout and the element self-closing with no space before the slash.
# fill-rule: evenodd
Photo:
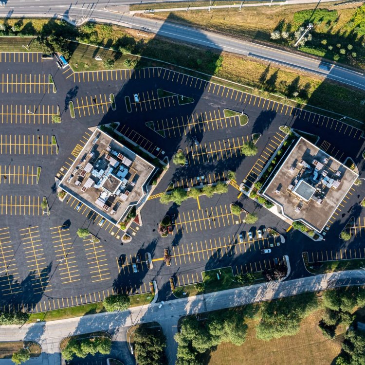
<svg viewBox="0 0 365 365">
<path fill-rule="evenodd" d="M 220 271 L 219 275 L 220 278 L 218 280 L 217 273 L 219 273 L 219 271 Z M 262 277 L 262 272 L 256 272 L 253 274 L 255 275 L 256 280 L 252 284 L 258 284 L 265 281 L 265 279 Z M 203 271 L 202 276 L 204 282 L 204 291 L 203 291 L 204 294 L 210 292 L 219 292 L 221 290 L 239 288 L 246 285 L 252 285 L 252 284 L 241 284 L 233 281 L 235 280 L 235 276 L 232 274 L 231 267 Z M 183 292 L 185 292 L 186 294 L 183 295 Z M 190 284 L 176 287 L 176 289 L 173 290 L 173 293 L 178 298 L 185 298 L 187 296 L 201 294 L 202 292 L 197 291 L 197 289 L 195 288 L 195 284 Z"/>
</svg>

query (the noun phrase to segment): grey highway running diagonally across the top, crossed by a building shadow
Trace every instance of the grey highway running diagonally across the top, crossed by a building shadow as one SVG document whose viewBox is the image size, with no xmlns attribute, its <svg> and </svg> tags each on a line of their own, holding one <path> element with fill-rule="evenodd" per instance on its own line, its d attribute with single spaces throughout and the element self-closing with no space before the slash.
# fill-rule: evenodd
<svg viewBox="0 0 365 365">
<path fill-rule="evenodd" d="M 0 9 L 0 17 L 64 17 L 66 19 L 90 18 L 92 21 L 111 22 L 133 29 L 146 30 L 160 36 L 174 38 L 185 42 L 212 47 L 221 51 L 249 55 L 270 62 L 279 63 L 300 70 L 320 74 L 332 80 L 365 90 L 365 76 L 362 72 L 352 71 L 340 66 L 324 63 L 310 57 L 295 55 L 286 51 L 262 46 L 253 42 L 239 40 L 233 37 L 218 35 L 182 25 L 172 24 L 148 18 L 140 18 L 117 12 L 118 7 L 105 7 L 105 1 L 99 3 L 75 3 L 67 0 L 12 0 Z M 110 1 L 108 5 L 126 4 L 131 2 Z M 30 5 L 30 3 L 32 5 Z M 114 10 L 114 11 L 111 11 Z"/>
</svg>

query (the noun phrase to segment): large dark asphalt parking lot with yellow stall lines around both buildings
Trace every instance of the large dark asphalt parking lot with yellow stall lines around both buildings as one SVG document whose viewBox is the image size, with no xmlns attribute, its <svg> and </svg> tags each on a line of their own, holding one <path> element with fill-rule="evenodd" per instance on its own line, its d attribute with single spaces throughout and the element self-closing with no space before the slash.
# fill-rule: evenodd
<svg viewBox="0 0 365 365">
<path fill-rule="evenodd" d="M 171 276 L 176 285 L 186 285 L 201 281 L 202 271 L 215 268 L 231 266 L 234 274 L 261 272 L 274 268 L 286 254 L 295 262 L 302 251 L 311 253 L 312 259 L 336 257 L 336 253 L 352 258 L 365 255 L 358 247 L 329 250 L 327 240 L 323 251 L 313 249 L 310 239 L 294 230 L 286 232 L 288 223 L 239 192 L 241 182 L 248 186 L 256 182 L 283 141 L 279 126 L 314 130 L 319 146 L 329 154 L 341 160 L 351 156 L 357 163 L 360 157 L 351 151 L 363 146 L 359 129 L 163 68 L 78 73 L 69 66 L 58 69 L 54 60 L 42 60 L 39 54 L 21 53 L 0 54 L 0 66 L 3 63 L 10 71 L 0 73 L 1 305 L 13 310 L 21 305 L 35 311 L 64 308 L 100 301 L 120 291 L 149 292 L 151 280 L 156 280 L 161 298 L 168 298 Z M 159 89 L 169 94 L 162 96 Z M 111 93 L 115 111 L 110 108 Z M 181 105 L 178 95 L 194 101 Z M 130 113 L 125 96 L 131 101 Z M 68 109 L 70 100 L 74 119 Z M 62 122 L 57 125 L 52 117 L 58 108 Z M 239 116 L 225 117 L 224 109 L 244 111 L 249 123 L 240 126 Z M 92 134 L 89 128 L 107 123 L 119 123 L 118 131 L 128 143 L 160 160 L 167 156 L 171 161 L 178 148 L 187 157 L 186 166 L 170 163 L 141 211 L 142 221 L 128 228 L 132 241 L 123 245 L 124 231 L 119 226 L 102 221 L 82 202 L 76 208 L 80 201 L 70 195 L 62 202 L 56 197 L 55 178 L 62 179 L 79 156 Z M 243 156 L 242 145 L 256 133 L 260 134 L 257 155 Z M 42 172 L 37 183 L 38 166 Z M 165 190 L 228 182 L 228 171 L 237 176 L 225 194 L 190 198 L 180 206 L 159 202 Z M 350 190 L 329 227 L 348 220 L 358 194 L 358 188 Z M 44 196 L 49 216 L 43 215 Z M 246 224 L 246 213 L 233 215 L 231 203 L 257 213 L 258 221 Z M 157 228 L 165 214 L 174 223 L 172 233 L 161 237 Z M 359 220 L 351 235 L 361 237 L 364 226 Z M 88 228 L 97 238 L 78 237 L 78 228 Z M 268 228 L 284 235 L 286 242 L 269 237 Z M 328 229 L 330 238 L 332 228 Z M 164 260 L 166 248 L 171 266 Z M 271 252 L 261 253 L 264 249 Z M 152 269 L 146 266 L 147 252 L 153 259 Z"/>
</svg>

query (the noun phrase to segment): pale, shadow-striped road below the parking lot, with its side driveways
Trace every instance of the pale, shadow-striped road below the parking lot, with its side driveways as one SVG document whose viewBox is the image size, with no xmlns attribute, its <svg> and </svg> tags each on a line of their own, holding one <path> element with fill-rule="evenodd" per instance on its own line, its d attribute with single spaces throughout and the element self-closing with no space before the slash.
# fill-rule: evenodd
<svg viewBox="0 0 365 365">
<path fill-rule="evenodd" d="M 54 365 L 59 363 L 58 344 L 69 334 L 87 333 L 94 330 L 115 331 L 126 328 L 138 322 L 159 322 L 165 335 L 169 338 L 169 364 L 175 363 L 176 343 L 172 335 L 177 331 L 180 317 L 186 314 L 200 313 L 256 303 L 272 298 L 312 292 L 343 285 L 364 285 L 365 271 L 346 271 L 340 273 L 314 275 L 302 279 L 287 280 L 280 283 L 263 283 L 238 289 L 215 292 L 194 297 L 176 299 L 165 303 L 159 309 L 158 303 L 146 307 L 135 307 L 124 312 L 111 312 L 88 315 L 80 318 L 70 318 L 48 323 L 18 326 L 3 326 L 0 330 L 0 341 L 34 340 L 41 343 L 42 357 L 32 360 L 32 364 Z M 119 331 L 120 335 L 125 329 Z"/>
</svg>

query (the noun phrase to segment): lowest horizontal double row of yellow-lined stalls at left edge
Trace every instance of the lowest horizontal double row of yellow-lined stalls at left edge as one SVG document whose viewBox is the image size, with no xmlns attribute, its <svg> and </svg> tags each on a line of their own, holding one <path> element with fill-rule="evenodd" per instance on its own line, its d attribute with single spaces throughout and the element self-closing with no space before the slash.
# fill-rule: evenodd
<svg viewBox="0 0 365 365">
<path fill-rule="evenodd" d="M 1 215 L 39 216 L 42 214 L 41 198 L 31 196 L 1 195 Z"/>
</svg>

